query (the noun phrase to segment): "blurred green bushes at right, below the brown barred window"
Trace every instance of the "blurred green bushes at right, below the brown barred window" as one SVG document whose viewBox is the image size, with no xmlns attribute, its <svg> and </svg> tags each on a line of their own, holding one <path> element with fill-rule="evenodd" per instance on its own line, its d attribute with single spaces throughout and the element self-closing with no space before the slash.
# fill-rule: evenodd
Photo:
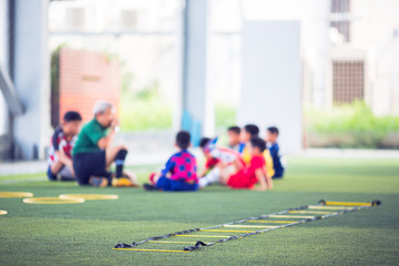
<svg viewBox="0 0 399 266">
<path fill-rule="evenodd" d="M 399 132 L 398 116 L 376 116 L 361 101 L 328 111 L 308 110 L 306 120 L 310 132 L 346 136 L 351 141 L 345 146 L 351 147 L 378 147 L 389 133 Z"/>
</svg>

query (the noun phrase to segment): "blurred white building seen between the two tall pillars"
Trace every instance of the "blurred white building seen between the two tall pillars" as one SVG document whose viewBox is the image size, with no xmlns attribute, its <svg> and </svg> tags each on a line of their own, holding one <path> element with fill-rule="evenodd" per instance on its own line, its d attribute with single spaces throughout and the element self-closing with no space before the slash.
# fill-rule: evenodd
<svg viewBox="0 0 399 266">
<path fill-rule="evenodd" d="M 75 50 L 117 57 L 129 90 L 154 84 L 166 101 L 175 102 L 182 72 L 180 0 L 53 1 L 49 6 L 50 50 Z"/>
</svg>

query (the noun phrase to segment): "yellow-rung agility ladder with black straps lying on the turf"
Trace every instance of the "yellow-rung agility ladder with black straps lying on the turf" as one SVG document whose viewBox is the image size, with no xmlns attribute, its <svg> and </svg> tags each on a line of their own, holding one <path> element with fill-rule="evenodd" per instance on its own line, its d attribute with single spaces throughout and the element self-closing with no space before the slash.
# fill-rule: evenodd
<svg viewBox="0 0 399 266">
<path fill-rule="evenodd" d="M 289 208 L 278 213 L 260 215 L 258 217 L 249 217 L 246 219 L 239 219 L 226 224 L 215 225 L 205 228 L 195 228 L 181 231 L 173 234 L 165 234 L 162 236 L 150 237 L 145 241 L 133 242 L 132 244 L 121 243 L 113 249 L 117 250 L 135 250 L 135 252 L 161 252 L 161 253 L 190 253 L 197 250 L 201 247 L 213 246 L 217 243 L 228 242 L 233 239 L 244 238 L 246 236 L 263 234 L 265 232 L 285 228 L 293 225 L 304 224 L 307 222 L 329 218 L 337 215 L 342 215 L 349 212 L 355 212 L 372 206 L 380 205 L 380 201 L 372 201 L 371 203 L 356 203 L 356 202 L 328 202 L 321 200 L 318 204 L 306 205 L 295 208 Z M 224 229 L 226 228 L 226 229 Z M 239 229 L 245 228 L 245 229 Z M 191 233 L 239 233 L 238 235 L 196 235 Z M 197 239 L 203 238 L 221 238 L 216 242 L 205 243 L 203 241 L 197 242 L 181 242 L 181 241 L 162 241 L 168 237 L 195 237 Z M 183 250 L 173 249 L 143 249 L 135 248 L 139 245 L 145 243 L 156 244 L 195 244 L 194 246 L 186 246 Z"/>
</svg>

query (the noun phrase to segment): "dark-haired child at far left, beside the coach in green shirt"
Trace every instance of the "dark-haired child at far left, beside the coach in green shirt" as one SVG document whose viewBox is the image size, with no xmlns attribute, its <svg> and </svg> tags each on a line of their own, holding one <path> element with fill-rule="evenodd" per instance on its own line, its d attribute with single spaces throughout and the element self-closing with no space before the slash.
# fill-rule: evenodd
<svg viewBox="0 0 399 266">
<path fill-rule="evenodd" d="M 49 170 L 47 172 L 50 181 L 75 181 L 72 166 L 72 149 L 79 133 L 82 117 L 78 112 L 70 111 L 63 116 L 61 126 L 55 129 L 51 139 L 49 150 Z"/>
</svg>

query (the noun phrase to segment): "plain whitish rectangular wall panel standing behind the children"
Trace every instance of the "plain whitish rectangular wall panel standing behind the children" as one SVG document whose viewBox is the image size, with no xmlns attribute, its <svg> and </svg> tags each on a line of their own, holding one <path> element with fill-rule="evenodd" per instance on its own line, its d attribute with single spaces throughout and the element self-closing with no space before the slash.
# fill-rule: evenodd
<svg viewBox="0 0 399 266">
<path fill-rule="evenodd" d="M 245 21 L 239 124 L 280 130 L 283 152 L 303 147 L 299 21 Z"/>
</svg>

